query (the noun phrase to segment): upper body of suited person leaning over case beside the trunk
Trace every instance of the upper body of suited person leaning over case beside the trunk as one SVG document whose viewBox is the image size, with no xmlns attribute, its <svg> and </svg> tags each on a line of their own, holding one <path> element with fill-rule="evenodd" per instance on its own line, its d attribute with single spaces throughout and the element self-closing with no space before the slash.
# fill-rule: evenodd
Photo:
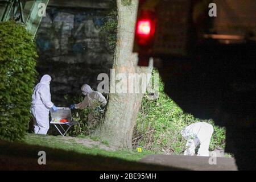
<svg viewBox="0 0 256 182">
<path fill-rule="evenodd" d="M 102 96 L 100 92 L 92 90 L 89 85 L 84 84 L 81 87 L 82 94 L 85 95 L 85 98 L 79 104 L 71 105 L 71 109 L 85 109 L 87 106 L 90 109 L 96 109 L 96 107 L 102 105 L 106 105 L 106 98 Z"/>
</svg>

